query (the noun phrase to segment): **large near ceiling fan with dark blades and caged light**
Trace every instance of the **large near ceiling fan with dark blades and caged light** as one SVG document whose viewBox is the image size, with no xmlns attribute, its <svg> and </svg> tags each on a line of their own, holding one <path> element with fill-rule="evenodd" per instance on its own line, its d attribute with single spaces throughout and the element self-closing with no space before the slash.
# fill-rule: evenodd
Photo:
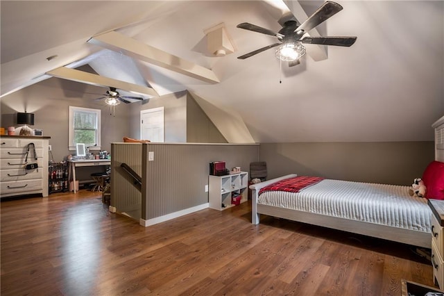
<svg viewBox="0 0 444 296">
<path fill-rule="evenodd" d="M 302 38 L 305 33 L 310 31 L 315 26 L 318 26 L 326 19 L 329 19 L 336 13 L 339 13 L 343 7 L 336 2 L 326 1 L 321 7 L 316 10 L 305 22 L 298 24 L 295 20 L 289 20 L 284 22 L 284 25 L 278 33 L 269 30 L 268 28 L 262 28 L 250 23 L 238 24 L 237 28 L 244 28 L 245 30 L 254 31 L 266 35 L 274 36 L 278 38 L 279 42 L 270 44 L 266 47 L 262 47 L 255 51 L 251 51 L 244 56 L 238 58 L 244 60 L 259 54 L 262 51 L 278 47 L 276 50 L 276 57 L 280 60 L 289 62 L 289 67 L 298 65 L 300 58 L 305 55 L 305 47 L 302 44 L 322 44 L 322 45 L 335 45 L 339 47 L 350 47 L 355 41 L 356 37 L 305 37 Z"/>
</svg>

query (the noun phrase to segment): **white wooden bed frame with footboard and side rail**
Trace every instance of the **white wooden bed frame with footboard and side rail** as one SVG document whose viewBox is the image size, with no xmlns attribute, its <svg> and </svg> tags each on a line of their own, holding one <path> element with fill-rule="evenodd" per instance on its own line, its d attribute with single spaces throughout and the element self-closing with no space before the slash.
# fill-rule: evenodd
<svg viewBox="0 0 444 296">
<path fill-rule="evenodd" d="M 435 160 L 444 162 L 444 116 L 435 122 L 432 127 L 435 129 Z M 273 217 L 280 217 L 287 220 L 303 222 L 307 224 L 314 224 L 321 227 L 331 229 L 338 229 L 341 231 L 348 231 L 351 233 L 359 233 L 365 236 L 372 236 L 375 238 L 383 238 L 385 240 L 393 240 L 395 242 L 402 242 L 408 245 L 415 245 L 418 247 L 432 247 L 432 238 L 430 233 L 402 229 L 399 227 L 390 227 L 382 224 L 361 222 L 357 220 L 350 220 L 339 217 L 332 217 L 327 215 L 320 215 L 316 213 L 308 213 L 305 211 L 291 210 L 287 208 L 279 208 L 276 206 L 266 206 L 257 204 L 258 193 L 261 188 L 275 183 L 282 179 L 297 176 L 296 174 L 289 174 L 281 176 L 276 179 L 271 179 L 262 183 L 251 185 L 252 190 L 252 223 L 259 224 L 259 215 L 269 215 Z"/>
</svg>

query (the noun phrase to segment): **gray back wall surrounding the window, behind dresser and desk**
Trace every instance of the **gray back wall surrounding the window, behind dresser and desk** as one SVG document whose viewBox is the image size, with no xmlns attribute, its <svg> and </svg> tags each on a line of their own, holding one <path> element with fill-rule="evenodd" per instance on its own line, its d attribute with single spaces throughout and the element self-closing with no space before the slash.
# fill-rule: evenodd
<svg viewBox="0 0 444 296">
<path fill-rule="evenodd" d="M 110 115 L 110 108 L 105 106 L 103 100 L 94 100 L 101 97 L 105 91 L 105 88 L 84 83 L 57 78 L 46 79 L 1 98 L 1 126 L 17 126 L 17 112 L 26 110 L 28 113 L 34 113 L 35 124 L 31 127 L 43 129 L 43 135 L 51 137 L 49 145 L 52 147 L 53 159 L 60 162 L 67 155 L 76 152 L 68 149 L 69 106 L 100 109 L 102 150 L 110 151 L 111 142 L 121 142 L 123 136 L 129 134 L 129 106 L 120 104 L 115 108 L 115 116 Z M 76 171 L 78 179 L 91 179 L 89 174 L 96 170 L 98 169 L 90 167 L 79 168 Z"/>
</svg>

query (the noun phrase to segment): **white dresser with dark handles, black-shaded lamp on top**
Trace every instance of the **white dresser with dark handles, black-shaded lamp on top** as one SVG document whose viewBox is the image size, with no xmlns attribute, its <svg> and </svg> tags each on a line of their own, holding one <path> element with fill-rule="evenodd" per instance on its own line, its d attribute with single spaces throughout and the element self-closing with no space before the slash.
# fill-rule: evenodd
<svg viewBox="0 0 444 296">
<path fill-rule="evenodd" d="M 0 136 L 0 197 L 39 194 L 48 196 L 48 161 L 50 137 Z M 38 168 L 26 170 L 28 144 L 34 143 Z M 33 152 L 28 163 L 35 163 Z"/>
</svg>

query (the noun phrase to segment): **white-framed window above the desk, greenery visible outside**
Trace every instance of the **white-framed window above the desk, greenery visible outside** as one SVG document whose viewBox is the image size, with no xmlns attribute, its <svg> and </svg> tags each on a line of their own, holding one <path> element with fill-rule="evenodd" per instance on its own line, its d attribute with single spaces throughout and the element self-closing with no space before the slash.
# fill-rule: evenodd
<svg viewBox="0 0 444 296">
<path fill-rule="evenodd" d="M 69 106 L 69 150 L 76 150 L 77 143 L 100 150 L 100 126 L 101 110 Z"/>
</svg>

